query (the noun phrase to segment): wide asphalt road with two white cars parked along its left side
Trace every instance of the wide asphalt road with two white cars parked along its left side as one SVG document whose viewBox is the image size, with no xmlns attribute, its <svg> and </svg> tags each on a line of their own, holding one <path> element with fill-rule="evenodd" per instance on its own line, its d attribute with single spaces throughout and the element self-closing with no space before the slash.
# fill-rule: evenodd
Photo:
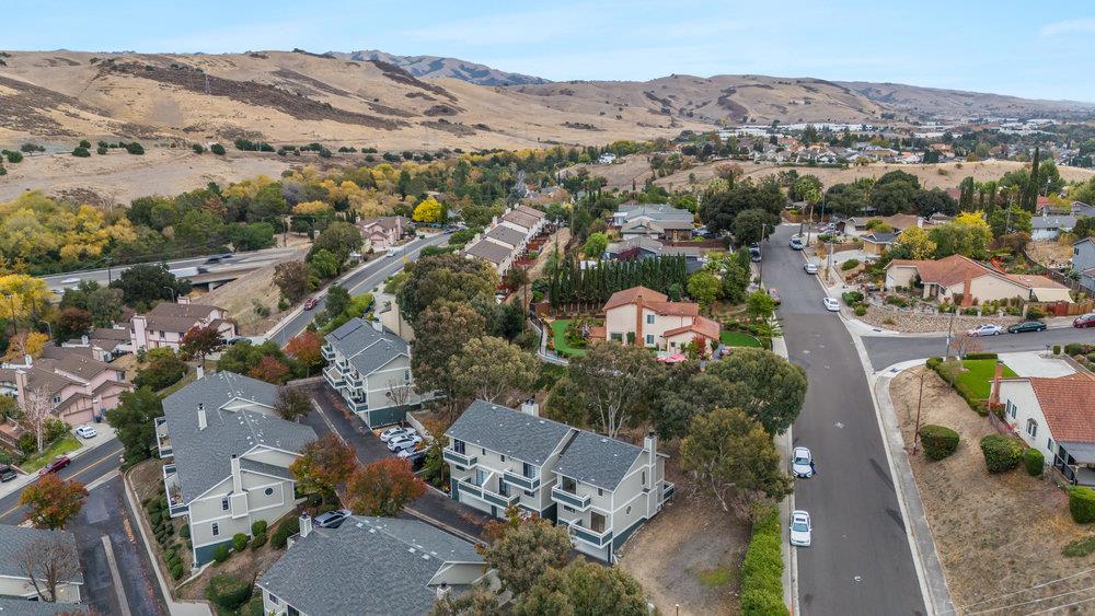
<svg viewBox="0 0 1095 616">
<path fill-rule="evenodd" d="M 809 511 L 814 545 L 798 558 L 802 614 L 925 614 L 917 570 L 866 376 L 840 317 L 787 243 L 781 226 L 763 247 L 763 278 L 780 291 L 791 361 L 809 387 L 794 444 L 814 452 L 818 474 L 795 483 L 795 508 Z"/>
</svg>

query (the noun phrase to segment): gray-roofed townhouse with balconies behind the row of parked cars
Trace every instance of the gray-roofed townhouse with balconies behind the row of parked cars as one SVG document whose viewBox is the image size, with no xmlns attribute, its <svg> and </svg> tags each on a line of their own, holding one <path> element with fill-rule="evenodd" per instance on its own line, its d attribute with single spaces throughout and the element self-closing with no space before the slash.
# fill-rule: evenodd
<svg viewBox="0 0 1095 616">
<path fill-rule="evenodd" d="M 422 403 L 411 372 L 411 347 L 379 321 L 351 318 L 327 334 L 323 377 L 369 428 L 399 423 Z"/>
</svg>

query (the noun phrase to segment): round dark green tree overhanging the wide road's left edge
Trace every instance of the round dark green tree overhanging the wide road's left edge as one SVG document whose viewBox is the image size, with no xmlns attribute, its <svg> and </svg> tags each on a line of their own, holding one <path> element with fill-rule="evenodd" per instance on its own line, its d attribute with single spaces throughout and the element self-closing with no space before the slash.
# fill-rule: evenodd
<svg viewBox="0 0 1095 616">
<path fill-rule="evenodd" d="M 770 434 L 786 432 L 806 402 L 806 371 L 766 349 L 735 349 L 708 365 L 707 374 L 733 385 L 733 406 Z"/>
</svg>

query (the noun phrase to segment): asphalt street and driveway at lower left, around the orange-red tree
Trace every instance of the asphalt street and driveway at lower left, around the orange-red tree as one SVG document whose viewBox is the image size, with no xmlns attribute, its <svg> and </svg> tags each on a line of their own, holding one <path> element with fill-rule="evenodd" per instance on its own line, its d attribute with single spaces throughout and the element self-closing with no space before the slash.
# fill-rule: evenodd
<svg viewBox="0 0 1095 616">
<path fill-rule="evenodd" d="M 83 568 L 83 601 L 102 614 L 120 614 L 113 577 L 106 560 L 103 536 L 110 536 L 122 585 L 134 614 L 166 614 L 160 585 L 153 581 L 148 553 L 139 543 L 136 521 L 125 505 L 122 478 L 117 476 L 122 444 L 113 439 L 77 457 L 59 476 L 84 485 L 114 475 L 89 491 L 80 513 L 66 530 L 76 535 L 80 565 Z M 0 522 L 19 524 L 26 519 L 26 508 L 19 504 L 22 491 L 0 499 Z"/>
</svg>

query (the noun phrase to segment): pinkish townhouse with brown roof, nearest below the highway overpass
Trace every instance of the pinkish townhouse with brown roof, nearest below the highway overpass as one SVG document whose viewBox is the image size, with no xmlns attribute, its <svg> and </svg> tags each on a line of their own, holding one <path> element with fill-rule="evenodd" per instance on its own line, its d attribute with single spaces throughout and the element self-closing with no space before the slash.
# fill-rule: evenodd
<svg viewBox="0 0 1095 616">
<path fill-rule="evenodd" d="M 129 323 L 135 352 L 161 347 L 177 351 L 183 336 L 194 327 L 214 327 L 224 339 L 235 337 L 235 324 L 224 309 L 192 304 L 185 297 L 177 303 L 160 302 L 148 314 L 135 314 Z"/>
</svg>

